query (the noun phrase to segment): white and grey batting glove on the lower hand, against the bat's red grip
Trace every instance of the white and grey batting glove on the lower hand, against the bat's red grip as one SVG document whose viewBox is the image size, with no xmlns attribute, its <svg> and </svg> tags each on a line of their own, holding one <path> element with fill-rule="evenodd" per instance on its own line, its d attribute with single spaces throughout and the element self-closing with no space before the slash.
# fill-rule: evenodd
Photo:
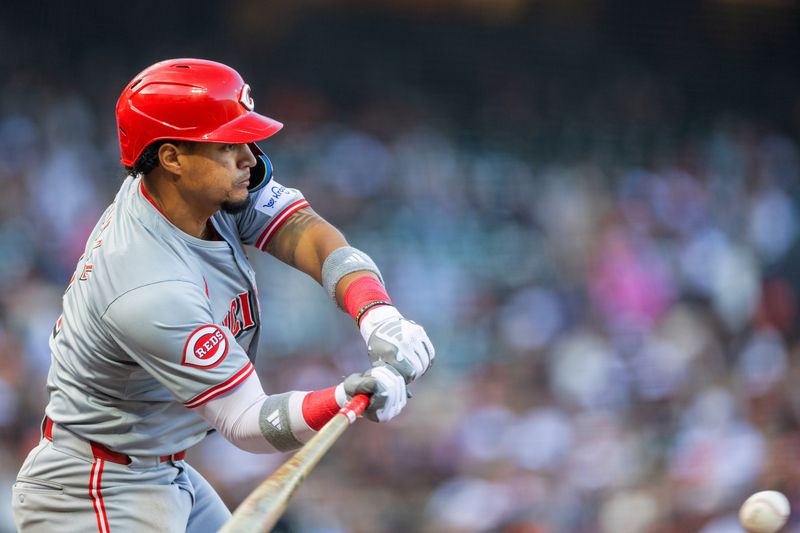
<svg viewBox="0 0 800 533">
<path fill-rule="evenodd" d="M 340 407 L 356 394 L 369 395 L 364 416 L 373 422 L 388 422 L 406 406 L 406 383 L 403 376 L 390 366 L 376 366 L 361 374 L 350 374 L 336 387 Z"/>
</svg>

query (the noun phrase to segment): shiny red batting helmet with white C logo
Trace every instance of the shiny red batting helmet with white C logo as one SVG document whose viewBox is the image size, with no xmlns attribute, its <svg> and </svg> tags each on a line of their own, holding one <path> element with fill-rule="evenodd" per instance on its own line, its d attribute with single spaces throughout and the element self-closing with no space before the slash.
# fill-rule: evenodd
<svg viewBox="0 0 800 533">
<path fill-rule="evenodd" d="M 232 68 L 204 59 L 169 59 L 144 69 L 117 100 L 119 147 L 132 166 L 160 139 L 253 143 L 283 124 L 253 111 L 250 86 Z"/>
</svg>

